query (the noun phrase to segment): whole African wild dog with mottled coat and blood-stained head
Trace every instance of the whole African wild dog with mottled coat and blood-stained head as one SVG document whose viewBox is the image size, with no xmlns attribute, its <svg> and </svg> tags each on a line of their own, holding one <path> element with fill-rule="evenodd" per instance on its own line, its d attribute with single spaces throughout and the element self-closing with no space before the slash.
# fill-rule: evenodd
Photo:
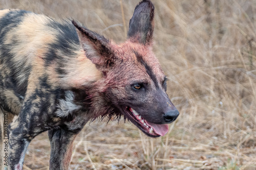
<svg viewBox="0 0 256 170">
<path fill-rule="evenodd" d="M 179 112 L 152 51 L 153 19 L 153 4 L 141 1 L 127 40 L 115 44 L 74 20 L 0 10 L 0 112 L 18 115 L 9 169 L 23 168 L 29 142 L 44 131 L 50 169 L 68 169 L 76 135 L 99 116 L 123 115 L 151 137 L 167 133 Z"/>
</svg>

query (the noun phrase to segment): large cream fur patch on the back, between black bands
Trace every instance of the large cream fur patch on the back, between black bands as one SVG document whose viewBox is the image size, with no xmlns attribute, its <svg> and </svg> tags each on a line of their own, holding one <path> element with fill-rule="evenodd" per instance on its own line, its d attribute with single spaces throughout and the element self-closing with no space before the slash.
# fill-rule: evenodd
<svg viewBox="0 0 256 170">
<path fill-rule="evenodd" d="M 34 13 L 25 14 L 24 20 L 18 27 L 9 31 L 5 37 L 5 44 L 12 43 L 15 39 L 18 44 L 14 44 L 11 53 L 14 55 L 13 62 L 19 67 L 20 74 L 17 75 L 19 84 L 26 81 L 26 68 L 32 63 L 43 67 L 42 58 L 48 50 L 48 44 L 56 39 L 56 31 L 47 27 L 49 18 L 44 15 Z M 38 57 L 41 59 L 38 60 Z M 38 62 L 39 61 L 39 62 Z"/>
</svg>

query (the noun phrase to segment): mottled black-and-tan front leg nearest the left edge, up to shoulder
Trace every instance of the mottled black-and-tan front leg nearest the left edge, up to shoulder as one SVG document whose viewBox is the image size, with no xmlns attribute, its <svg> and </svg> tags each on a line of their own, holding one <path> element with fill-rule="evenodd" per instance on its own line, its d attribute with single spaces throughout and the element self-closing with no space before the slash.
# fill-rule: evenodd
<svg viewBox="0 0 256 170">
<path fill-rule="evenodd" d="M 34 91 L 32 91 L 34 90 Z M 22 109 L 9 130 L 9 165 L 10 170 L 21 170 L 30 141 L 38 134 L 54 126 L 51 115 L 56 107 L 58 91 L 38 86 L 27 92 Z"/>
</svg>

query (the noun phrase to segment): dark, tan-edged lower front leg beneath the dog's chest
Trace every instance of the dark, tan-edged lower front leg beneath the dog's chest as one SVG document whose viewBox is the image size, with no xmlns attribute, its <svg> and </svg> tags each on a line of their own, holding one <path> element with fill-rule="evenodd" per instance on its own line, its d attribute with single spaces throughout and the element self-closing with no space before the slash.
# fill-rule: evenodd
<svg viewBox="0 0 256 170">
<path fill-rule="evenodd" d="M 48 136 L 51 142 L 50 170 L 67 170 L 72 155 L 73 142 L 78 131 L 63 129 L 49 130 Z"/>
</svg>

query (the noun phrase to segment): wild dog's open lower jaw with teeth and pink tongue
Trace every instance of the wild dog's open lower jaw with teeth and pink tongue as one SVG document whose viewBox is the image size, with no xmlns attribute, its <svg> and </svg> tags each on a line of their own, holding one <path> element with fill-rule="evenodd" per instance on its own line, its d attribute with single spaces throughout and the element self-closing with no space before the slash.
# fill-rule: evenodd
<svg viewBox="0 0 256 170">
<path fill-rule="evenodd" d="M 126 111 L 129 113 L 129 117 L 132 118 L 132 121 L 142 132 L 146 135 L 151 137 L 159 137 L 164 136 L 168 130 L 168 125 L 158 125 L 148 122 L 147 120 L 143 119 L 138 112 L 136 112 L 131 107 L 126 107 Z"/>
</svg>

